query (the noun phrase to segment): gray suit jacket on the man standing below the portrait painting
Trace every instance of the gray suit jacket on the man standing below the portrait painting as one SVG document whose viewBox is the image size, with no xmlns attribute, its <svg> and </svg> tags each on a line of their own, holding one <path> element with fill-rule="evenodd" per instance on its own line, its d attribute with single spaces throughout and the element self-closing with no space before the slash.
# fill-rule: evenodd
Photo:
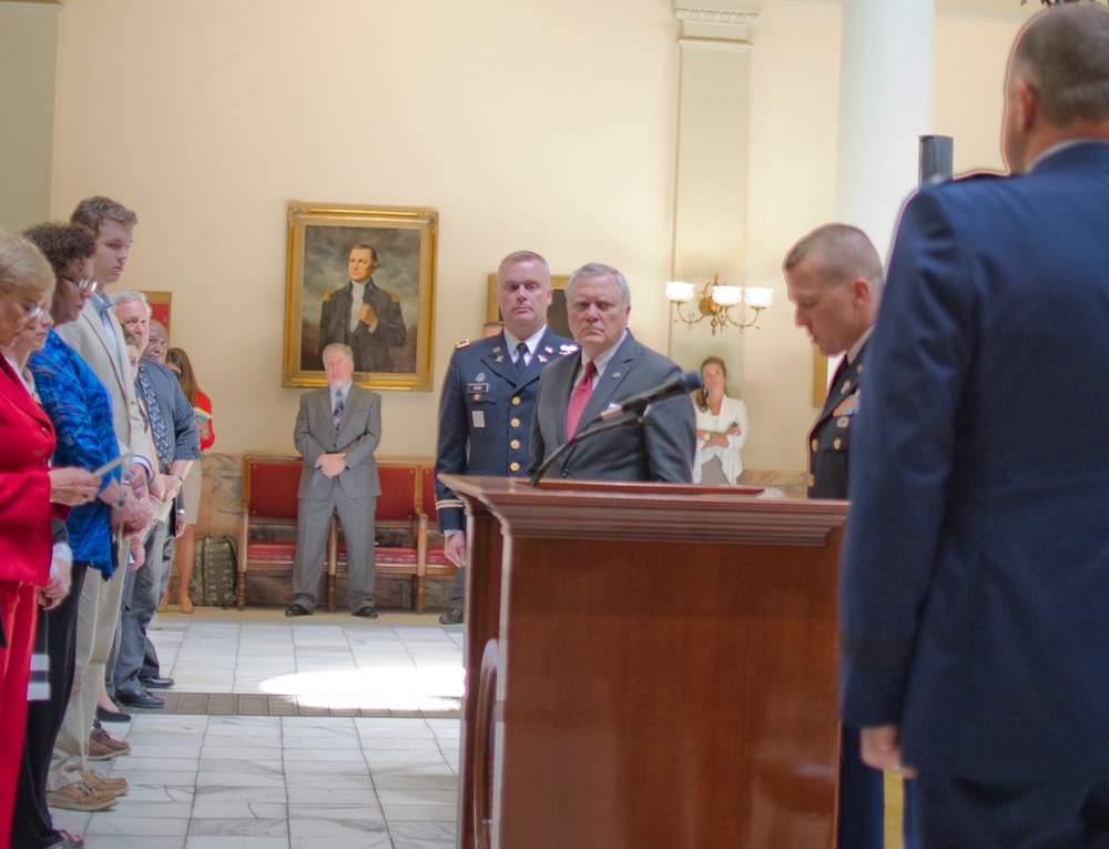
<svg viewBox="0 0 1109 849">
<path fill-rule="evenodd" d="M 328 387 L 304 393 L 293 441 L 304 457 L 298 498 L 369 498 L 381 494 L 374 459 L 381 441 L 381 396 L 376 392 L 350 384 L 337 435 Z M 347 467 L 336 477 L 327 477 L 316 467 L 321 454 L 344 451 Z"/>
</svg>

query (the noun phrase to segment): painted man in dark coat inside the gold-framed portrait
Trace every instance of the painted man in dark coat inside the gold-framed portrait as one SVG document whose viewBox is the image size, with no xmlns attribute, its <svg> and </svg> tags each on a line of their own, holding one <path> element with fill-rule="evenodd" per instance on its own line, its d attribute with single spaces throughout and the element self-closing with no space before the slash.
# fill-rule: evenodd
<svg viewBox="0 0 1109 849">
<path fill-rule="evenodd" d="M 319 353 L 333 342 L 354 352 L 356 372 L 391 372 L 389 348 L 404 347 L 408 332 L 395 292 L 374 283 L 377 251 L 356 244 L 347 259 L 349 282 L 324 295 L 319 311 Z"/>
</svg>

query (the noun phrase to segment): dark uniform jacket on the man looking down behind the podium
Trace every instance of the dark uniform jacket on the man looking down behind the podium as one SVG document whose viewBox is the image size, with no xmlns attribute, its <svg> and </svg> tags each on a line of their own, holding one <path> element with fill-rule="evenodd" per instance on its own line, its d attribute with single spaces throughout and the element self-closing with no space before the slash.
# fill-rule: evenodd
<svg viewBox="0 0 1109 849">
<path fill-rule="evenodd" d="M 851 454 L 851 432 L 862 398 L 863 353 L 854 363 L 844 361 L 824 401 L 816 424 L 808 433 L 808 497 L 846 498 L 847 459 Z"/>
</svg>

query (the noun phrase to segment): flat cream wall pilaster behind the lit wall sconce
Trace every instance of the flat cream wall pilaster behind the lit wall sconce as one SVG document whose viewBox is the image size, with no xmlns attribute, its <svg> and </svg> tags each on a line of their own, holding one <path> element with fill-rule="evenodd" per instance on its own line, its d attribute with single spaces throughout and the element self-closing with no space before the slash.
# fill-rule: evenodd
<svg viewBox="0 0 1109 849">
<path fill-rule="evenodd" d="M 674 0 L 682 29 L 671 272 L 698 289 L 714 273 L 721 283 L 744 282 L 749 37 L 761 6 L 761 0 Z M 692 331 L 671 324 L 670 356 L 695 370 L 705 355 L 719 354 L 729 362 L 729 376 L 737 378 L 740 332 L 730 327 L 711 336 L 706 324 Z"/>
</svg>

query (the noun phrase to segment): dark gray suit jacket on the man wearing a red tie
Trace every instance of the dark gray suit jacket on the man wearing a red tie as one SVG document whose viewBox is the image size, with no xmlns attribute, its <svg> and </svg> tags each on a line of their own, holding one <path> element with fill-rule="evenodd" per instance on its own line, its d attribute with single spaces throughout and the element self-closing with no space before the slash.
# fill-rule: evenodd
<svg viewBox="0 0 1109 849">
<path fill-rule="evenodd" d="M 543 459 L 566 442 L 566 410 L 580 365 L 581 353 L 577 352 L 551 363 L 543 372 L 536 414 L 531 420 L 529 474 L 533 474 Z M 594 385 L 581 415 L 579 432 L 611 405 L 680 374 L 681 368 L 676 364 L 640 345 L 629 333 Z M 624 427 L 582 441 L 551 466 L 547 476 L 688 484 L 693 481 L 695 453 L 696 416 L 693 400 L 686 395 L 653 405 L 641 426 Z"/>
</svg>

